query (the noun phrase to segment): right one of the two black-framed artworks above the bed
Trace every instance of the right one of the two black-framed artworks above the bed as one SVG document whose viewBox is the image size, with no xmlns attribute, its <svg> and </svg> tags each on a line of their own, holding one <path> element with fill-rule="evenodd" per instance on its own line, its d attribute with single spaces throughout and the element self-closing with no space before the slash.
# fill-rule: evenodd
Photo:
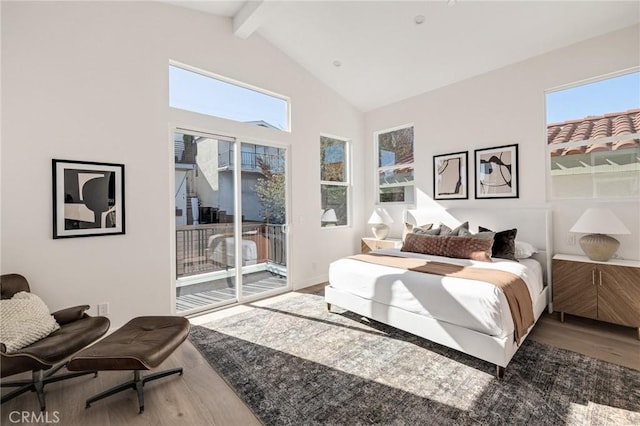
<svg viewBox="0 0 640 426">
<path fill-rule="evenodd" d="M 476 198 L 518 198 L 518 145 L 475 150 Z"/>
</svg>

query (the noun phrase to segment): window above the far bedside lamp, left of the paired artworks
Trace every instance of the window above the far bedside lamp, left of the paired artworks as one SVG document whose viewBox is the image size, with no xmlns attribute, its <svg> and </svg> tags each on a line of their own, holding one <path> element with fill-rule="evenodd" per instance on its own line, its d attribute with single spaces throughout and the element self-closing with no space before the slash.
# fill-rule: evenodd
<svg viewBox="0 0 640 426">
<path fill-rule="evenodd" d="M 376 134 L 379 203 L 413 203 L 413 126 Z"/>
</svg>

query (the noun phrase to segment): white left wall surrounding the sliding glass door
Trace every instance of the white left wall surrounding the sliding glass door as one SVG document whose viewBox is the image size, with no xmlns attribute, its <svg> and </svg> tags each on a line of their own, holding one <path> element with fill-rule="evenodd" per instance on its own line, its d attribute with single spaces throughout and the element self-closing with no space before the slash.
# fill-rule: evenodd
<svg viewBox="0 0 640 426">
<path fill-rule="evenodd" d="M 169 60 L 289 96 L 292 132 L 170 111 Z M 259 36 L 234 37 L 229 19 L 152 2 L 3 2 L 2 112 L 1 272 L 26 275 L 51 309 L 109 302 L 116 327 L 172 312 L 172 125 L 291 148 L 294 287 L 357 247 L 357 227 L 320 229 L 319 135 L 352 139 L 358 157 L 363 115 Z M 52 158 L 125 164 L 125 235 L 51 238 Z M 361 165 L 354 176 L 362 186 Z"/>
</svg>

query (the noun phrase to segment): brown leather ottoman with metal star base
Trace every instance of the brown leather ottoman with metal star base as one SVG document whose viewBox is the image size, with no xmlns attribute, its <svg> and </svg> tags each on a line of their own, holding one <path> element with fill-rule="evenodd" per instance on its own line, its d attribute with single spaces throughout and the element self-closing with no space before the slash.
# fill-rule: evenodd
<svg viewBox="0 0 640 426">
<path fill-rule="evenodd" d="M 137 317 L 114 331 L 98 343 L 71 358 L 67 369 L 71 371 L 131 370 L 133 379 L 101 392 L 89 399 L 92 403 L 126 389 L 138 393 L 140 413 L 144 412 L 145 383 L 171 374 L 182 375 L 182 368 L 173 368 L 142 376 L 142 370 L 160 365 L 189 335 L 186 318 L 174 316 Z"/>
</svg>

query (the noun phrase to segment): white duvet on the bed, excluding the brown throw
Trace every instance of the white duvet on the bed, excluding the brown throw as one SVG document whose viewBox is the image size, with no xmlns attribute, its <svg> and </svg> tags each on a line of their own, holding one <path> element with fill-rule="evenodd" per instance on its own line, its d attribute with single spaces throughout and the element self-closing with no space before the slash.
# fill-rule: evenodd
<svg viewBox="0 0 640 426">
<path fill-rule="evenodd" d="M 542 268 L 534 259 L 520 259 L 520 262 L 494 259 L 489 263 L 401 252 L 399 249 L 374 252 L 508 271 L 523 279 L 534 305 L 543 291 Z M 507 300 L 503 292 L 490 283 L 407 271 L 348 258 L 331 263 L 329 283 L 331 287 L 365 299 L 490 336 L 505 337 L 513 333 Z"/>
</svg>

